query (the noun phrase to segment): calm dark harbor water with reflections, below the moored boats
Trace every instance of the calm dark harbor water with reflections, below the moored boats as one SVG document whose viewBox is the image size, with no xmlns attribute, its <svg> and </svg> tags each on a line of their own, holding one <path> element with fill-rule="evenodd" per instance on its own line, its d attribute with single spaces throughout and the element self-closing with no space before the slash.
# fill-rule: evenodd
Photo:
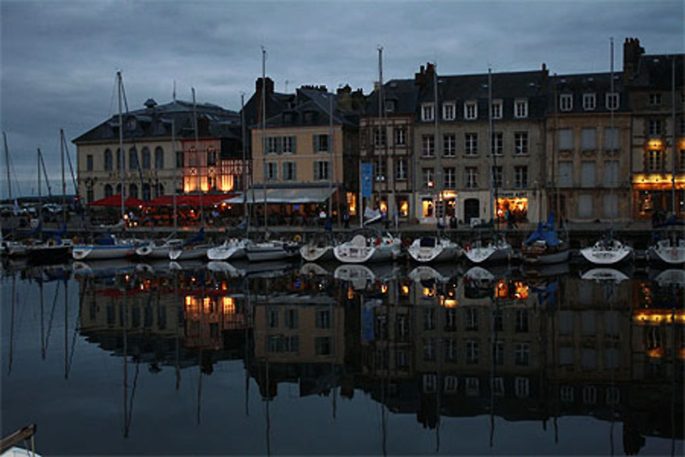
<svg viewBox="0 0 685 457">
<path fill-rule="evenodd" d="M 2 434 L 36 423 L 43 455 L 682 455 L 682 271 L 586 273 L 5 264 Z"/>
</svg>

